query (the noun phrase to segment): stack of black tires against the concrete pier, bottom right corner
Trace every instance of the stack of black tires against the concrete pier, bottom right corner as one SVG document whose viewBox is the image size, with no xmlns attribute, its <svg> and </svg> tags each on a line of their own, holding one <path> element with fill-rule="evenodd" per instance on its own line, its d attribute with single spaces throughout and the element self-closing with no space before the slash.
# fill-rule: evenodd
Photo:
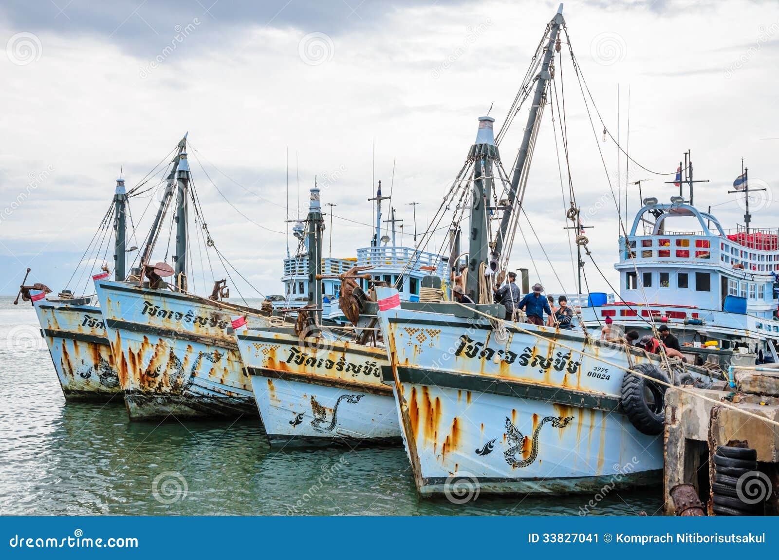
<svg viewBox="0 0 779 560">
<path fill-rule="evenodd" d="M 717 447 L 714 454 L 714 482 L 711 484 L 714 514 L 717 516 L 762 516 L 763 502 L 745 502 L 744 481 L 757 470 L 757 452 L 742 447 Z M 746 475 L 746 476 L 745 476 Z M 739 480 L 741 482 L 739 482 Z"/>
</svg>

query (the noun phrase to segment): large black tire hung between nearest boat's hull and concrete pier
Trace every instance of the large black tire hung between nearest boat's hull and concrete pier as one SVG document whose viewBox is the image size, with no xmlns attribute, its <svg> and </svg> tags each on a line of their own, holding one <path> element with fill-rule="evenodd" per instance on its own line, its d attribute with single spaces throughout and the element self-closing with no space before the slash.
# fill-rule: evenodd
<svg viewBox="0 0 779 560">
<path fill-rule="evenodd" d="M 636 372 L 648 375 L 652 379 L 668 383 L 668 376 L 654 364 L 637 364 Z M 647 403 L 644 394 L 649 390 L 654 397 L 654 405 Z M 622 378 L 622 408 L 636 430 L 646 435 L 660 435 L 665 428 L 665 390 L 667 386 L 654 383 L 631 372 L 625 372 Z"/>
</svg>

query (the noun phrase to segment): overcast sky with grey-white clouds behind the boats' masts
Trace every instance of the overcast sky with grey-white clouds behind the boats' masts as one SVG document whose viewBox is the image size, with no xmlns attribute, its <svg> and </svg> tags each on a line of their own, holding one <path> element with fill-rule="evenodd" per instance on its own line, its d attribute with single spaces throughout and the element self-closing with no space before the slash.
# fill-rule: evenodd
<svg viewBox="0 0 779 560">
<path fill-rule="evenodd" d="M 32 281 L 65 287 L 120 169 L 128 187 L 136 185 L 187 131 L 217 247 L 264 294 L 282 291 L 287 150 L 291 206 L 296 174 L 301 199 L 318 176 L 323 203 L 337 204 L 333 256 L 369 243 L 372 231 L 361 224 L 373 220 L 367 199 L 374 172 L 383 194 L 393 183 L 410 243 L 409 203 L 420 203 L 421 231 L 463 164 L 477 118 L 493 105 L 490 114 L 502 122 L 557 5 L 6 0 L 0 294 L 16 293 L 27 266 Z M 629 153 L 637 162 L 668 173 L 692 150 L 696 179 L 710 179 L 696 187 L 696 204 L 714 206 L 723 225 L 735 227 L 743 210 L 727 191 L 744 157 L 750 183 L 767 188 L 753 202 L 753 226 L 779 226 L 777 2 L 566 2 L 564 15 L 597 108 L 614 136 L 619 126 L 625 146 L 629 116 Z M 608 179 L 616 191 L 617 149 L 603 142 L 599 122 L 593 134 L 569 62 L 562 72 L 573 185 L 594 226 L 590 248 L 615 282 L 618 222 Z M 526 119 L 523 111 L 501 144 L 506 167 Z M 624 157 L 619 173 L 624 196 Z M 667 200 L 675 193 L 664 185 L 670 178 L 635 165 L 628 174 L 631 182 L 651 179 L 644 195 Z M 632 221 L 638 195 L 629 188 Z M 150 200 L 132 200 L 134 217 Z M 550 266 L 523 221 L 538 276 L 550 292 L 574 291 L 550 111 L 525 206 L 552 260 Z M 514 252 L 513 267 L 520 266 L 535 280 L 524 246 Z M 588 278 L 593 291 L 608 291 L 594 270 Z M 239 287 L 256 295 L 242 281 Z"/>
</svg>

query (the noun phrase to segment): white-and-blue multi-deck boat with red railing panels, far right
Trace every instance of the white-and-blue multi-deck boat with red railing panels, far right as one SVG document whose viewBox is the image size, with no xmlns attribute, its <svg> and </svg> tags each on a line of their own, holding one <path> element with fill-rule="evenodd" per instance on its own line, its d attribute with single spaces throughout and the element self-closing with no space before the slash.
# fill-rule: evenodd
<svg viewBox="0 0 779 560">
<path fill-rule="evenodd" d="M 643 199 L 619 239 L 620 301 L 583 309 L 583 322 L 601 329 L 610 318 L 615 336 L 667 326 L 689 361 L 722 372 L 779 363 L 779 229 L 749 226 L 749 170 L 736 191 L 745 195 L 745 224 L 727 229 L 693 205 L 692 163 L 679 169 L 679 195 Z"/>
</svg>

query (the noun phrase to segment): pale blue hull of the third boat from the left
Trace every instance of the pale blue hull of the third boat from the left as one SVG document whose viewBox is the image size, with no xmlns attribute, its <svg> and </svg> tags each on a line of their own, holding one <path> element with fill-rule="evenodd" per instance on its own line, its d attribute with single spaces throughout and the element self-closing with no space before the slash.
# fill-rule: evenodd
<svg viewBox="0 0 779 560">
<path fill-rule="evenodd" d="M 383 348 L 293 329 L 238 329 L 241 359 L 271 446 L 400 443 Z"/>
</svg>

